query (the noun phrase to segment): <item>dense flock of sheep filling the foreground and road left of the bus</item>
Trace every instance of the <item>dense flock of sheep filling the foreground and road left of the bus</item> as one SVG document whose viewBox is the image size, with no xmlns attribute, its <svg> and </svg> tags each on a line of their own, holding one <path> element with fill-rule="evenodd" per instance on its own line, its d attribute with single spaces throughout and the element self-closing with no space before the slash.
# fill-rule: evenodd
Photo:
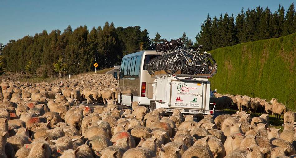
<svg viewBox="0 0 296 158">
<path fill-rule="evenodd" d="M 178 109 L 170 116 L 164 116 L 163 108 L 150 111 L 138 102 L 132 102 L 132 109 L 123 109 L 116 104 L 117 84 L 112 75 L 82 75 L 64 85 L 2 81 L 0 158 L 275 158 L 295 154 L 294 112 L 284 113 L 280 134 L 279 129 L 268 127 L 268 114 L 251 118 L 244 110 L 215 119 L 205 115 L 197 122 L 194 115 L 183 115 Z M 83 99 L 107 105 L 76 105 Z M 232 102 L 244 107 L 238 100 Z M 246 110 L 251 109 L 251 100 Z"/>
</svg>

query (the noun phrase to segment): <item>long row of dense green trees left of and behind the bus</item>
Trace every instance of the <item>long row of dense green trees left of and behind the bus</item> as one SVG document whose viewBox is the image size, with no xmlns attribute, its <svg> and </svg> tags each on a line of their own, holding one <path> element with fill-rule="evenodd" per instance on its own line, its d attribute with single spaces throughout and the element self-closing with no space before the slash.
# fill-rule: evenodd
<svg viewBox="0 0 296 158">
<path fill-rule="evenodd" d="M 140 26 L 115 27 L 112 22 L 103 27 L 79 26 L 74 31 L 69 25 L 64 32 L 46 30 L 34 36 L 0 43 L 0 72 L 39 74 L 47 77 L 53 71 L 78 74 L 120 64 L 123 55 L 154 49 L 162 41 L 159 33 L 152 40 L 147 29 Z M 156 43 L 156 44 L 155 44 Z"/>
</svg>

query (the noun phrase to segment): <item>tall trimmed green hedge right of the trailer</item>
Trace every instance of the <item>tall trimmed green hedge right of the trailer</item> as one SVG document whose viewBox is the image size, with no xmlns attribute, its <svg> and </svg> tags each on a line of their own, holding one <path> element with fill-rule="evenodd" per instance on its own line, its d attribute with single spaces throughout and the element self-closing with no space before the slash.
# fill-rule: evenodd
<svg viewBox="0 0 296 158">
<path fill-rule="evenodd" d="M 218 73 L 211 89 L 267 100 L 277 98 L 289 110 L 296 103 L 296 33 L 211 50 Z"/>
</svg>

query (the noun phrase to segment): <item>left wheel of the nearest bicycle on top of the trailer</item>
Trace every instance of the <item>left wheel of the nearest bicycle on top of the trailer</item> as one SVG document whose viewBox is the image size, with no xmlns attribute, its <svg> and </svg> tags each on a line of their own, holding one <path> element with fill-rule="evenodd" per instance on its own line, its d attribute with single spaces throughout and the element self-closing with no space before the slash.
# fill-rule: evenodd
<svg viewBox="0 0 296 158">
<path fill-rule="evenodd" d="M 163 68 L 166 73 L 173 74 L 178 70 L 181 70 L 183 68 L 183 64 L 184 62 L 179 56 L 176 56 L 175 54 L 169 54 L 165 56 Z"/>
</svg>

